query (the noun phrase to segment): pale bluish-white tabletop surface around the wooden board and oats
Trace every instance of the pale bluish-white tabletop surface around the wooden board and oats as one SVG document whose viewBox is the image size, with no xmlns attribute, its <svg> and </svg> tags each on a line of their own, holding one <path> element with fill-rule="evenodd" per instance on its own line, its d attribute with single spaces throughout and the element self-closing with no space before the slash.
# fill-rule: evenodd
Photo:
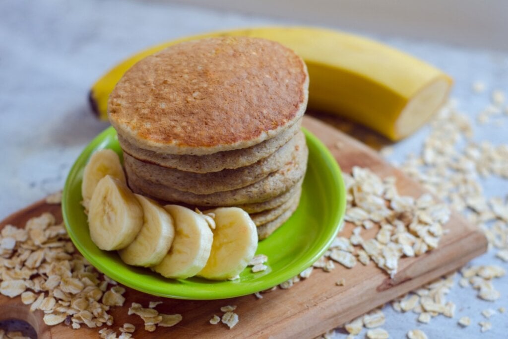
<svg viewBox="0 0 508 339">
<path fill-rule="evenodd" d="M 91 117 L 87 94 L 90 85 L 117 61 L 144 47 L 181 36 L 274 23 L 283 22 L 157 2 L 0 2 L 0 218 L 63 187 L 80 151 L 108 126 Z M 472 119 L 488 104 L 492 89 L 503 89 L 508 95 L 507 54 L 397 37 L 372 37 L 451 74 L 456 81 L 452 96 Z M 475 80 L 486 83 L 486 94 L 472 94 Z M 508 120 L 508 115 L 504 120 Z M 508 121 L 504 127 L 475 126 L 475 139 L 506 143 L 507 127 Z M 390 159 L 402 161 L 408 153 L 417 152 L 427 132 L 422 129 L 395 145 Z M 488 196 L 504 198 L 508 181 L 489 179 L 484 188 Z M 494 257 L 494 252 L 473 263 L 495 263 L 508 269 L 506 263 Z M 429 338 L 508 337 L 506 313 L 493 316 L 493 329 L 480 333 L 478 322 L 485 320 L 482 310 L 508 308 L 508 276 L 496 280 L 494 285 L 502 294 L 494 303 L 477 299 L 471 288 L 456 286 L 449 295 L 457 303 L 455 318 L 439 316 L 430 324 L 418 323 L 413 313 L 401 314 L 385 306 L 387 322 L 383 327 L 395 338 L 405 337 L 413 328 L 421 328 Z M 241 311 L 239 314 L 241 318 Z M 457 325 L 458 318 L 464 315 L 472 319 L 466 329 Z M 364 335 L 365 331 L 359 337 Z"/>
</svg>

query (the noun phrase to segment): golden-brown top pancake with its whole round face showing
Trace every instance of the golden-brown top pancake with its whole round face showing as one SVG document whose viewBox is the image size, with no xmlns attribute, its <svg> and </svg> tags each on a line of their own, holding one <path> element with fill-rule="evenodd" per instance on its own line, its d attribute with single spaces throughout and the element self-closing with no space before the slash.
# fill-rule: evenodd
<svg viewBox="0 0 508 339">
<path fill-rule="evenodd" d="M 180 43 L 148 56 L 116 84 L 108 115 L 143 149 L 207 155 L 270 139 L 304 113 L 303 60 L 277 42 L 247 37 Z"/>
</svg>

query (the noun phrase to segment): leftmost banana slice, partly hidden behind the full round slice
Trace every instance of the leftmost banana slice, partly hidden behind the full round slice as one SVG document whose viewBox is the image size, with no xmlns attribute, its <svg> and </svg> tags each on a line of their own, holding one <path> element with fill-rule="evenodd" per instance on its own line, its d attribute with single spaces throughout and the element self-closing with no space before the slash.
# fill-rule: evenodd
<svg viewBox="0 0 508 339">
<path fill-rule="evenodd" d="M 85 166 L 81 183 L 81 194 L 84 201 L 92 198 L 99 180 L 108 174 L 126 183 L 120 158 L 113 150 L 106 148 L 94 152 Z"/>
</svg>

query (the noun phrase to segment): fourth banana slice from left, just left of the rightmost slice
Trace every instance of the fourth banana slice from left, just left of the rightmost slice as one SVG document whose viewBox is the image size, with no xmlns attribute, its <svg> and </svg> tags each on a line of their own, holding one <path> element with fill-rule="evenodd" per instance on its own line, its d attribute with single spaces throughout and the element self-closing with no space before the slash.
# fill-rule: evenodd
<svg viewBox="0 0 508 339">
<path fill-rule="evenodd" d="M 152 268 L 166 278 L 194 276 L 205 267 L 210 256 L 213 233 L 201 215 L 193 210 L 178 205 L 164 208 L 173 217 L 175 238 L 166 257 Z"/>
</svg>

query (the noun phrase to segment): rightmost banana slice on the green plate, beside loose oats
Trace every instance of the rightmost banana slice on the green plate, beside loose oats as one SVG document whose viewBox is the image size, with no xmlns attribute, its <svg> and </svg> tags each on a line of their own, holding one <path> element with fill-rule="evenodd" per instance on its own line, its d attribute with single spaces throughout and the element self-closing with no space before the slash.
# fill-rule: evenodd
<svg viewBox="0 0 508 339">
<path fill-rule="evenodd" d="M 249 214 L 238 207 L 220 207 L 215 213 L 215 230 L 210 258 L 198 273 L 206 279 L 226 280 L 247 267 L 258 249 L 258 232 Z"/>
</svg>

